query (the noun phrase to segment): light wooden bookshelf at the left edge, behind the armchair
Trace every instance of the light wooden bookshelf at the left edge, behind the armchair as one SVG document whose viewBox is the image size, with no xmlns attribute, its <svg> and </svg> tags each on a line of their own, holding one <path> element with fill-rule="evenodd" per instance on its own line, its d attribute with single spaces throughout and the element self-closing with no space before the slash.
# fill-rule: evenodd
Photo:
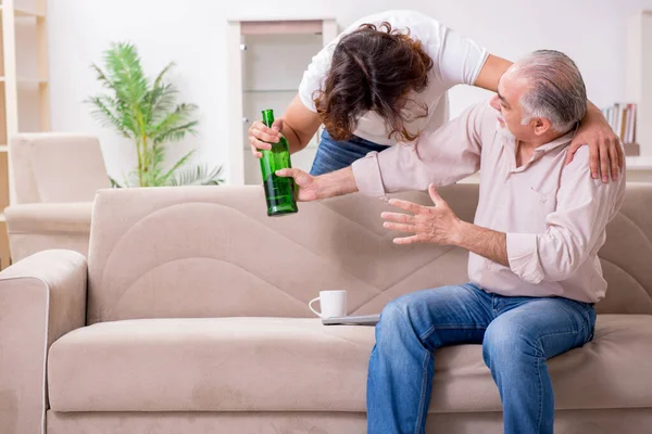
<svg viewBox="0 0 652 434">
<path fill-rule="evenodd" d="M 26 0 L 0 0 L 0 269 L 10 265 L 7 222 L 3 210 L 14 203 L 11 184 L 9 139 L 17 132 L 48 131 L 50 129 L 50 90 L 48 85 L 48 41 L 46 27 L 47 0 L 35 0 L 30 7 Z M 37 71 L 26 74 L 18 71 L 16 61 L 16 26 L 34 26 Z M 24 88 L 37 89 L 38 127 L 25 129 L 18 115 Z"/>
</svg>

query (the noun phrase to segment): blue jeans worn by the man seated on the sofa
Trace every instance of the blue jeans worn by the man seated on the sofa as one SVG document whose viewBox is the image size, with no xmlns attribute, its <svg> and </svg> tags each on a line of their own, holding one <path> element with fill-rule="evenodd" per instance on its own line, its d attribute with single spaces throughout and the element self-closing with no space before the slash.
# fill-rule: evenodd
<svg viewBox="0 0 652 434">
<path fill-rule="evenodd" d="M 368 434 L 424 433 L 437 348 L 482 344 L 503 407 L 505 434 L 552 433 L 546 360 L 593 336 L 591 304 L 505 297 L 468 283 L 408 294 L 376 326 L 367 378 Z"/>
</svg>

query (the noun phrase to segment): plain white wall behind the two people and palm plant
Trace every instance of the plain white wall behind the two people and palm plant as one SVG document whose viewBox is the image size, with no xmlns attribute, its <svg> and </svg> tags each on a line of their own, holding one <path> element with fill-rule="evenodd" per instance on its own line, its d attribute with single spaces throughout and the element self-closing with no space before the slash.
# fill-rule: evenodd
<svg viewBox="0 0 652 434">
<path fill-rule="evenodd" d="M 100 88 L 89 68 L 111 41 L 130 40 L 153 75 L 175 61 L 180 99 L 199 105 L 197 138 L 172 155 L 198 148 L 197 161 L 226 161 L 226 26 L 228 17 L 335 16 L 340 28 L 386 9 L 416 9 L 475 39 L 498 55 L 515 60 L 540 48 L 557 49 L 579 65 L 589 97 L 599 106 L 625 98 L 627 17 L 652 9 L 652 0 L 50 0 L 49 42 L 52 128 L 98 135 L 109 171 L 134 166 L 133 145 L 101 128 L 83 101 Z M 484 98 L 454 89 L 451 112 Z"/>
</svg>

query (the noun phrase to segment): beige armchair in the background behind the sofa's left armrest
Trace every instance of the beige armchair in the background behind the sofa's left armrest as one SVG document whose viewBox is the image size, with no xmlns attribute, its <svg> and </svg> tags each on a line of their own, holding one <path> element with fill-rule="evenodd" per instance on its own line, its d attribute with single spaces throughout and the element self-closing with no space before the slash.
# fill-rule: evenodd
<svg viewBox="0 0 652 434">
<path fill-rule="evenodd" d="M 21 133 L 9 149 L 15 195 L 4 214 L 12 260 L 50 248 L 86 256 L 92 200 L 98 189 L 110 187 L 99 140 Z"/>
</svg>

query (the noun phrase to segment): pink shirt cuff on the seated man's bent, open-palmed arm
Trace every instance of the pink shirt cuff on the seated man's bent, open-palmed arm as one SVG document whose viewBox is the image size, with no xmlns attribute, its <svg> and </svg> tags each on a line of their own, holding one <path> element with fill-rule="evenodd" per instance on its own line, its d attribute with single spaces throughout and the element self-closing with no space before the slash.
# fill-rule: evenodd
<svg viewBox="0 0 652 434">
<path fill-rule="evenodd" d="M 537 238 L 535 233 L 507 233 L 510 269 L 522 280 L 535 284 L 544 277 L 539 264 Z"/>
</svg>

